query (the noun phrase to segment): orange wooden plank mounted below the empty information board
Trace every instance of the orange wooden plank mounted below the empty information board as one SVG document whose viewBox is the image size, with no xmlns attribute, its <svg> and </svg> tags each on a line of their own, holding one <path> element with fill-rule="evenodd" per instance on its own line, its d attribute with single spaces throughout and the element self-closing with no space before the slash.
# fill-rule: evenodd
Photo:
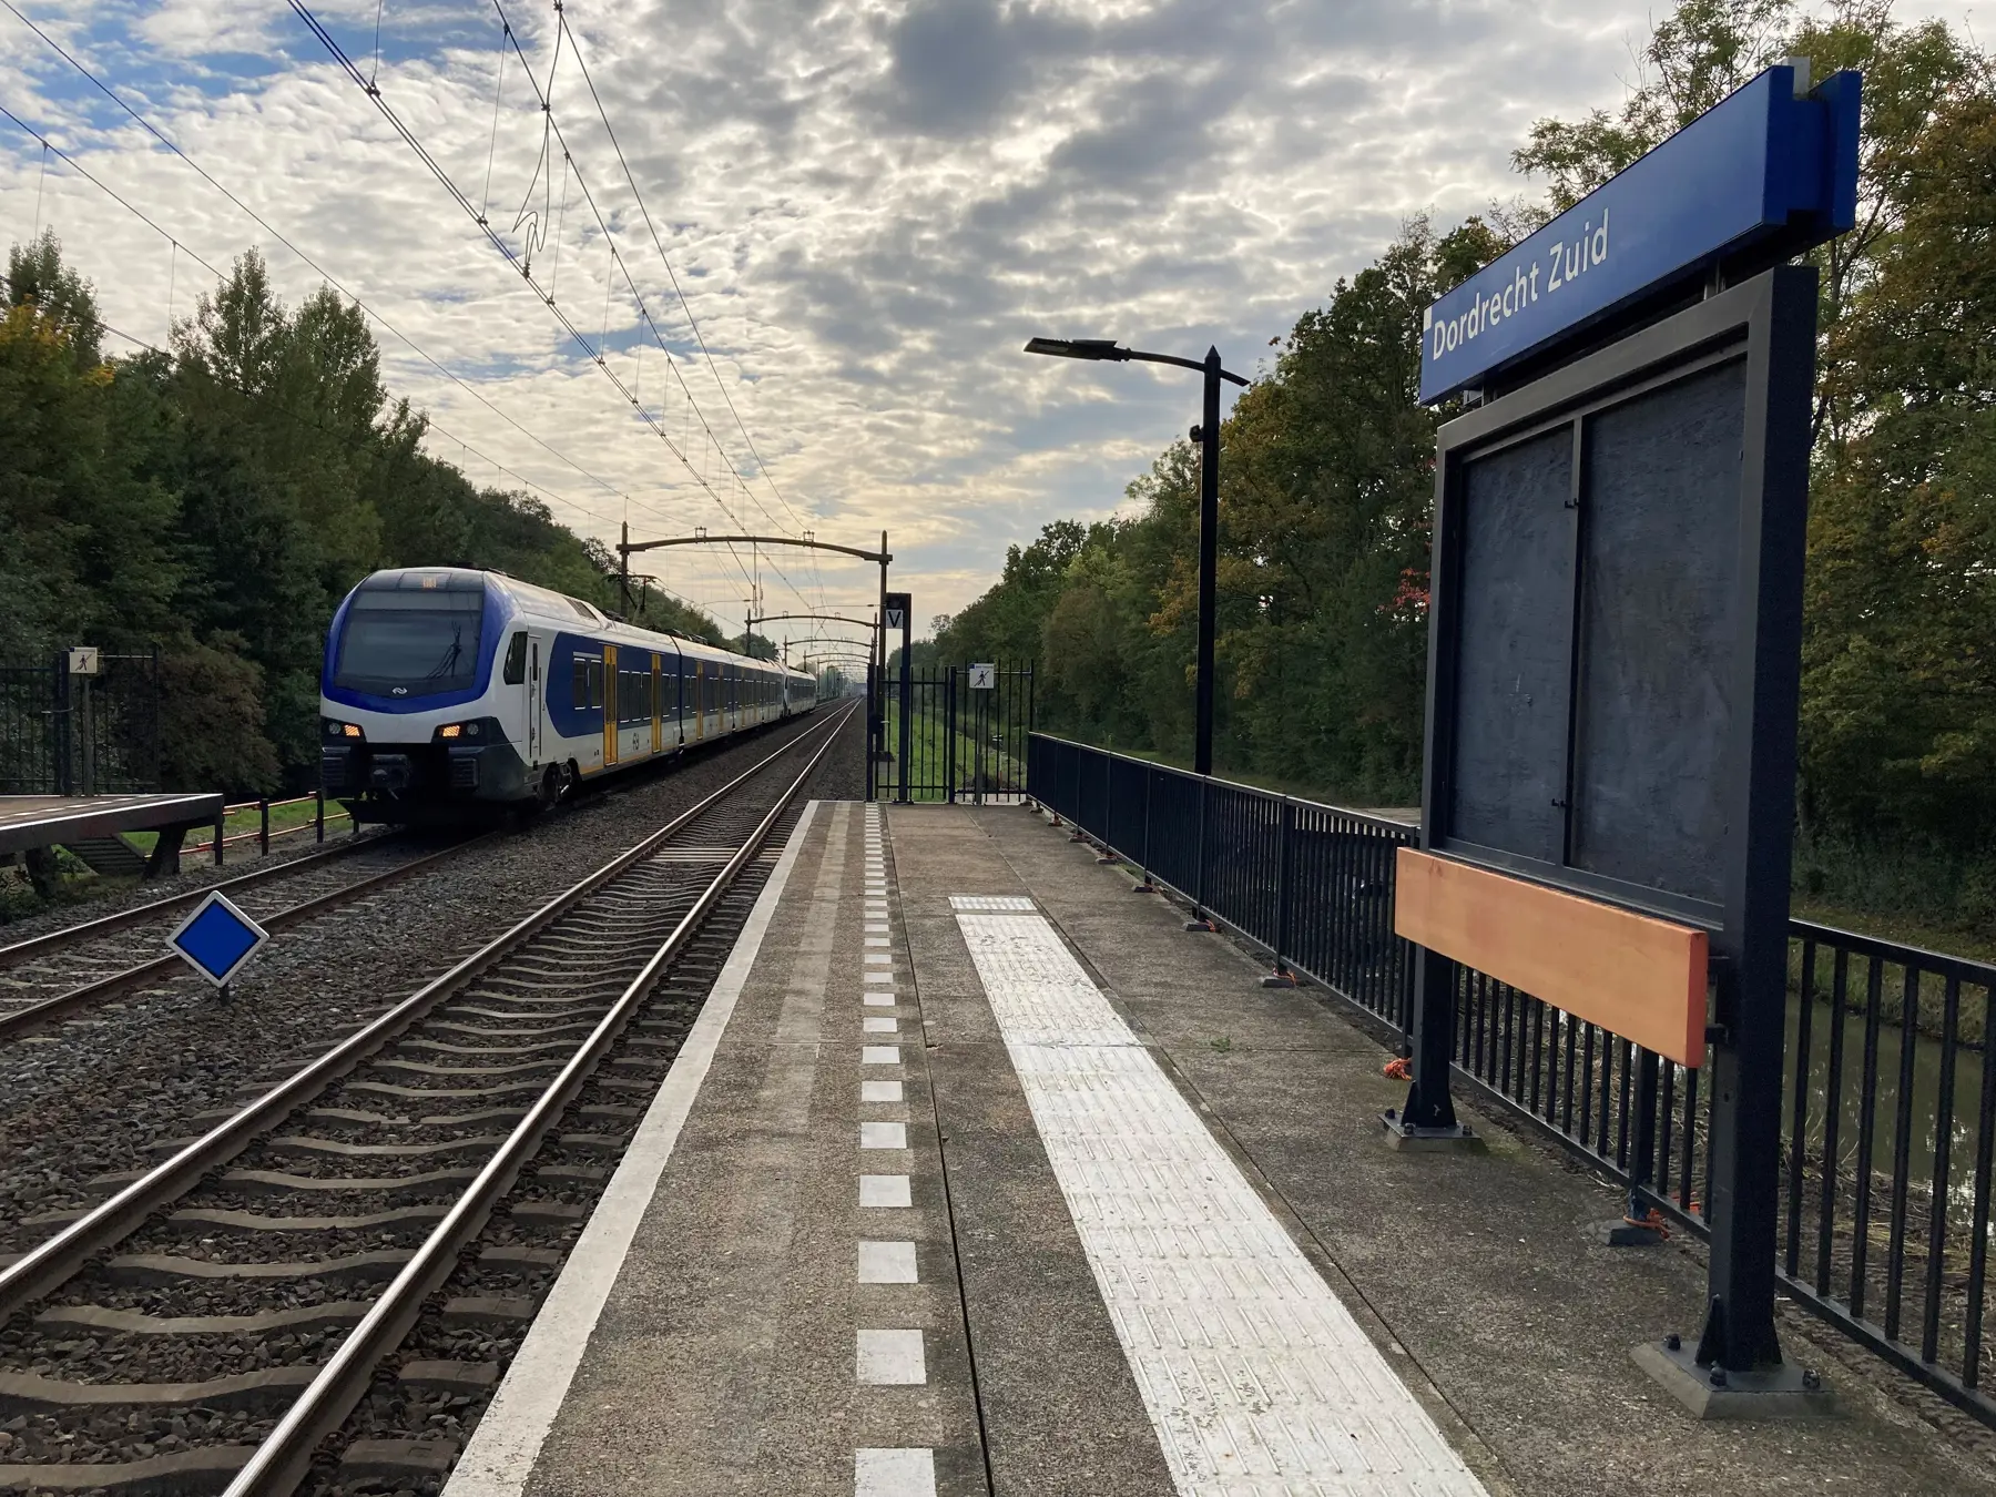
<svg viewBox="0 0 1996 1497">
<path fill-rule="evenodd" d="M 1703 930 L 1399 848 L 1393 930 L 1659 1056 L 1705 1064 Z"/>
</svg>

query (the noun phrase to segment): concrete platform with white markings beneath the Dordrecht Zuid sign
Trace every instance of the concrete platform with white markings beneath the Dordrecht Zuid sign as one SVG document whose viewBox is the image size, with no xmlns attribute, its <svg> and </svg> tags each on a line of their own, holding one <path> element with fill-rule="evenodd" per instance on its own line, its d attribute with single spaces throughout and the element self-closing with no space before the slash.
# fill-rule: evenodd
<svg viewBox="0 0 1996 1497">
<path fill-rule="evenodd" d="M 445 1497 L 1996 1493 L 1878 1363 L 1693 1423 L 1691 1248 L 1026 808 L 820 802 Z"/>
</svg>

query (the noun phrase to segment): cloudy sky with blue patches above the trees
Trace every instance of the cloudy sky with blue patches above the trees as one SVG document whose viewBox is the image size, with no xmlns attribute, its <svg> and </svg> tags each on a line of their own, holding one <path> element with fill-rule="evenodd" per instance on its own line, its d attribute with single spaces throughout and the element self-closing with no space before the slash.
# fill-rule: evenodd
<svg viewBox="0 0 1996 1497">
<path fill-rule="evenodd" d="M 293 299 L 331 275 L 475 481 L 609 539 L 886 529 L 918 619 L 1114 509 L 1198 413 L 1190 375 L 1026 337 L 1253 371 L 1407 216 L 1517 192 L 1531 120 L 1617 104 L 1661 8 L 567 0 L 559 36 L 553 0 L 299 2 L 12 0 L 267 228 L 0 8 L 0 104 L 74 158 L 0 118 L 0 234 L 54 228 L 154 343 L 204 261 L 257 246 Z M 745 571 L 770 613 L 874 587 L 796 551 L 655 557 L 725 621 Z"/>
</svg>

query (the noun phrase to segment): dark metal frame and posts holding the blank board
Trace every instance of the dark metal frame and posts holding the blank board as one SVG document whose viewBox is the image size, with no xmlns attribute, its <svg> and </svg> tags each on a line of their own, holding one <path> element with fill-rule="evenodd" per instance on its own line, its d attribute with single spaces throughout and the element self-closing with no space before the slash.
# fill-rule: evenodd
<svg viewBox="0 0 1996 1497">
<path fill-rule="evenodd" d="M 1816 271 L 1808 265 L 1764 271 L 1449 421 L 1437 437 L 1435 463 L 1421 848 L 1711 932 L 1715 1022 L 1707 1066 L 1715 1108 L 1707 1216 L 1713 1303 L 1699 1359 L 1737 1369 L 1780 1361 L 1772 1319 L 1774 1234 L 1814 335 Z M 1735 639 L 1719 796 L 1725 834 L 1711 848 L 1717 896 L 1693 898 L 1603 878 L 1567 860 L 1521 856 L 1451 836 L 1467 465 L 1569 425 L 1579 487 L 1587 417 L 1731 359 L 1745 365 L 1745 421 L 1739 523 L 1729 541 L 1737 547 Z M 1575 623 L 1569 669 L 1579 669 L 1579 643 Z M 1571 695 L 1565 711 L 1565 856 L 1571 858 L 1571 723 L 1577 715 Z M 1401 1128 L 1411 1134 L 1457 1130 L 1447 1096 L 1455 980 L 1453 962 L 1419 952 L 1413 1086 L 1401 1114 Z"/>
</svg>

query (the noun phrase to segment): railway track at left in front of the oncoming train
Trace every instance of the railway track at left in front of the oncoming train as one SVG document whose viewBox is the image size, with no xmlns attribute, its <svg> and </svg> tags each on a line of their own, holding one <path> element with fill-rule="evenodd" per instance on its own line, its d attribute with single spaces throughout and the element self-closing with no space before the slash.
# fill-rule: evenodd
<svg viewBox="0 0 1996 1497">
<path fill-rule="evenodd" d="M 166 936 L 218 888 L 265 930 L 281 930 L 419 874 L 469 840 L 425 852 L 433 844 L 403 834 L 355 836 L 343 846 L 0 946 L 0 1040 L 182 972 L 180 956 L 162 952 Z"/>
</svg>

